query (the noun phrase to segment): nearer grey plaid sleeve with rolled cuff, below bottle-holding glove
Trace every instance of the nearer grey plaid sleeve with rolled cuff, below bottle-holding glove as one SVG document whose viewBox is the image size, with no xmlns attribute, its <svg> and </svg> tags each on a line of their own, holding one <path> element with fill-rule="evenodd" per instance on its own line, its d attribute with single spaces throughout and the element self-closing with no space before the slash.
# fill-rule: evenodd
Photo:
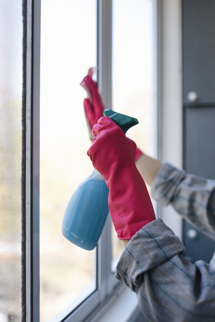
<svg viewBox="0 0 215 322">
<path fill-rule="evenodd" d="M 127 244 L 115 277 L 137 295 L 149 321 L 215 321 L 215 263 L 191 264 L 180 239 L 161 219 Z"/>
</svg>

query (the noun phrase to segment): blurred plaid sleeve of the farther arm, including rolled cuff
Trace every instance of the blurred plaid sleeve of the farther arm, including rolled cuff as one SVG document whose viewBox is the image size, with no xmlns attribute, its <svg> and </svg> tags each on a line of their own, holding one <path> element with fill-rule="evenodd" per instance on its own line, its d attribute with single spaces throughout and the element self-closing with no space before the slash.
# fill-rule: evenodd
<svg viewBox="0 0 215 322">
<path fill-rule="evenodd" d="M 151 187 L 152 198 L 171 204 L 181 216 L 215 239 L 215 180 L 162 165 Z"/>
</svg>

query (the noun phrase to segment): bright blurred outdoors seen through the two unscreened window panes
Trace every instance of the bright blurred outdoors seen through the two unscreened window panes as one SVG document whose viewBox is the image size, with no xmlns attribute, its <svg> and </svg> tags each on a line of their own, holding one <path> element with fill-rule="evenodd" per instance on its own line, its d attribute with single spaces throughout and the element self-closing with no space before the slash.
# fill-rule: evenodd
<svg viewBox="0 0 215 322">
<path fill-rule="evenodd" d="M 40 315 L 41 322 L 76 305 L 96 288 L 95 250 L 71 244 L 61 233 L 76 187 L 93 167 L 79 85 L 97 65 L 96 1 L 41 1 L 40 100 Z M 151 153 L 152 4 L 113 1 L 112 107 L 138 118 L 128 131 Z M 112 230 L 112 258 L 122 242 Z M 73 303 L 73 301 L 75 301 Z M 72 304 L 71 304 L 72 303 Z"/>
</svg>

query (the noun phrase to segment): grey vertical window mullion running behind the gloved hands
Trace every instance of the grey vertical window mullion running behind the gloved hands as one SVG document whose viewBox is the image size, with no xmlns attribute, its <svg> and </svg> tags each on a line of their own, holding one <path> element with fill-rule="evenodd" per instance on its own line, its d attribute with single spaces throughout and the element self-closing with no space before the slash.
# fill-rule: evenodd
<svg viewBox="0 0 215 322">
<path fill-rule="evenodd" d="M 98 87 L 106 108 L 112 106 L 112 0 L 98 0 Z M 101 301 L 108 294 L 111 274 L 111 218 L 105 223 L 98 244 L 98 287 Z"/>
</svg>

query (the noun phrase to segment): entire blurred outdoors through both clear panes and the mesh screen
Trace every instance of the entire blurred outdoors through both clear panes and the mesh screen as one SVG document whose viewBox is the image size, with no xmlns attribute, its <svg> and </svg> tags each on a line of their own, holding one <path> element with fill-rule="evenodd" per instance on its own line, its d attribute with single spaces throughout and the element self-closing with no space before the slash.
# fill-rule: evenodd
<svg viewBox="0 0 215 322">
<path fill-rule="evenodd" d="M 0 321 L 21 321 L 22 7 L 0 13 Z M 93 166 L 79 85 L 97 65 L 97 1 L 41 0 L 40 321 L 96 289 L 96 251 L 62 235 L 66 206 Z M 10 6 L 10 8 L 8 7 Z M 12 11 L 11 21 L 5 21 Z M 4 46 L 2 45 L 4 43 Z M 113 0 L 112 108 L 139 120 L 130 129 L 152 152 L 152 3 Z M 2 81 L 4 80 L 4 81 Z M 123 250 L 112 229 L 114 265 Z M 12 296 L 13 294 L 13 296 Z"/>
</svg>

